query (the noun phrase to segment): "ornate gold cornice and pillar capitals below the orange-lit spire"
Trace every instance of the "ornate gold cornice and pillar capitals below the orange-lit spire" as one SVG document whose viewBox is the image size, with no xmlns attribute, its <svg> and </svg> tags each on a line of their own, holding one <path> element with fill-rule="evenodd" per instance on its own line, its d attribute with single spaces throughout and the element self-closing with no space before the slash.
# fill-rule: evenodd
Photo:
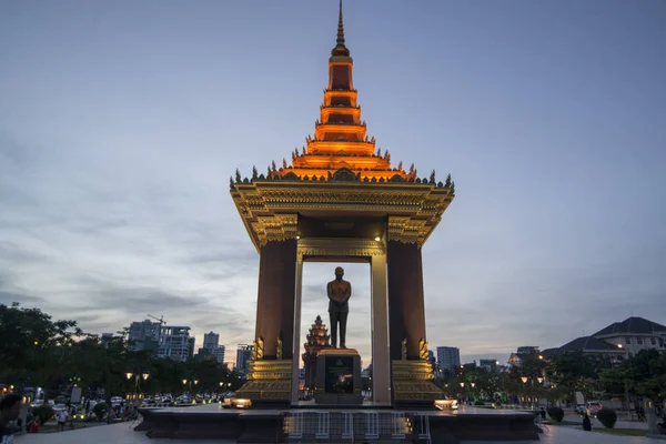
<svg viewBox="0 0 666 444">
<path fill-rule="evenodd" d="M 427 183 L 319 180 L 236 183 L 231 194 L 258 250 L 295 238 L 296 214 L 305 210 L 389 214 L 389 240 L 421 246 L 454 198 L 451 189 Z"/>
</svg>

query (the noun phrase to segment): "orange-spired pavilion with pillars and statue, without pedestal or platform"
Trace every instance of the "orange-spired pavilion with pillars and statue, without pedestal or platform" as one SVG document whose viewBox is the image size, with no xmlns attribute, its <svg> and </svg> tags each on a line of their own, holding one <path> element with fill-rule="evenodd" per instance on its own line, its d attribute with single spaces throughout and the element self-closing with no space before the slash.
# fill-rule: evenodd
<svg viewBox="0 0 666 444">
<path fill-rule="evenodd" d="M 303 263 L 371 265 L 373 402 L 431 405 L 443 393 L 427 361 L 422 248 L 453 201 L 448 175 L 392 163 L 361 119 L 342 7 L 314 135 L 265 174 L 236 170 L 231 195 L 260 254 L 254 355 L 236 392 L 253 406 L 297 402 Z M 336 274 L 337 275 L 337 274 Z M 341 278 L 342 279 L 342 275 Z M 337 282 L 337 283 L 336 283 Z M 330 284 L 332 344 L 346 346 L 349 294 Z M 336 331 L 339 330 L 339 331 Z M 340 343 L 337 335 L 340 333 Z"/>
</svg>

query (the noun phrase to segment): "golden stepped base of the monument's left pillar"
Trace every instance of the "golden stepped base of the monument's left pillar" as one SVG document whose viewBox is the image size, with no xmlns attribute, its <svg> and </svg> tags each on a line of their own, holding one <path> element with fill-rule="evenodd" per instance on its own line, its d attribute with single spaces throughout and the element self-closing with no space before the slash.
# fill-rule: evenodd
<svg viewBox="0 0 666 444">
<path fill-rule="evenodd" d="M 248 382 L 235 392 L 236 398 L 250 400 L 259 408 L 291 406 L 292 366 L 292 360 L 251 361 Z"/>
</svg>

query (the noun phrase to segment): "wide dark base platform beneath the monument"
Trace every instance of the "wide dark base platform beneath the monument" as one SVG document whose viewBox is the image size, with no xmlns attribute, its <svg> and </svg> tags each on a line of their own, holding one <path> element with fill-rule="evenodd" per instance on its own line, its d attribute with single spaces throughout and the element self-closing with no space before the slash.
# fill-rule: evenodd
<svg viewBox="0 0 666 444">
<path fill-rule="evenodd" d="M 151 438 L 229 440 L 236 443 L 538 441 L 536 412 L 465 407 L 457 413 L 404 410 L 140 408 L 134 430 Z"/>
</svg>

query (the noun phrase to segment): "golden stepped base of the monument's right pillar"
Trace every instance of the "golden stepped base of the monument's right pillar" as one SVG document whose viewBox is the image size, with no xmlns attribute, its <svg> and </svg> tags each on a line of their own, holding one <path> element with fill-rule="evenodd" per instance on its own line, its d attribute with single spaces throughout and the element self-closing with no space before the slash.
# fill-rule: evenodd
<svg viewBox="0 0 666 444">
<path fill-rule="evenodd" d="M 424 360 L 395 360 L 393 364 L 393 406 L 434 408 L 442 392 L 433 382 L 433 367 Z"/>
</svg>

